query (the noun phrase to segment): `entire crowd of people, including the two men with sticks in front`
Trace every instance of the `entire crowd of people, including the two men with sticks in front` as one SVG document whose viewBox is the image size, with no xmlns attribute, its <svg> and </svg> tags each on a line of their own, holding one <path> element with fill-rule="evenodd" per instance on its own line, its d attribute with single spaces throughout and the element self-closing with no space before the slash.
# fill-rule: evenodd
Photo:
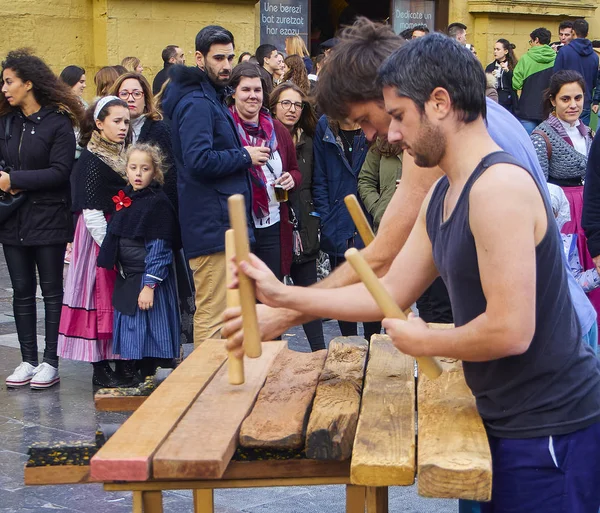
<svg viewBox="0 0 600 513">
<path fill-rule="evenodd" d="M 163 50 L 152 85 L 136 57 L 103 67 L 90 105 L 83 68 L 57 77 L 9 52 L 0 243 L 23 361 L 7 386 L 55 385 L 59 358 L 113 387 L 174 366 L 182 342 L 229 337 L 240 351 L 225 231 L 241 194 L 254 256 L 237 272 L 256 280 L 263 339 L 302 324 L 324 349 L 324 317 L 346 336 L 359 322 L 380 333 L 344 260 L 362 249 L 396 301 L 416 303 L 419 317 L 383 321 L 394 343 L 464 361 L 494 483 L 492 505 L 461 511 L 597 511 L 599 65 L 585 20 L 559 33 L 534 30 L 520 59 L 499 39 L 484 68 L 464 24 L 396 35 L 360 19 L 314 60 L 294 36 L 234 64 L 233 34 L 211 25 L 191 66 Z M 348 194 L 376 232 L 366 248 Z M 322 255 L 331 274 L 314 286 Z"/>
</svg>

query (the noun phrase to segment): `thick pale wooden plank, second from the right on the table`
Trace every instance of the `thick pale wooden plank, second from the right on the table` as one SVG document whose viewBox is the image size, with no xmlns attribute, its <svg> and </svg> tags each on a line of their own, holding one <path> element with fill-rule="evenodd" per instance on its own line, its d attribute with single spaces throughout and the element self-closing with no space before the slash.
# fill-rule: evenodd
<svg viewBox="0 0 600 513">
<path fill-rule="evenodd" d="M 415 481 L 415 359 L 373 335 L 350 480 L 363 486 Z"/>
</svg>

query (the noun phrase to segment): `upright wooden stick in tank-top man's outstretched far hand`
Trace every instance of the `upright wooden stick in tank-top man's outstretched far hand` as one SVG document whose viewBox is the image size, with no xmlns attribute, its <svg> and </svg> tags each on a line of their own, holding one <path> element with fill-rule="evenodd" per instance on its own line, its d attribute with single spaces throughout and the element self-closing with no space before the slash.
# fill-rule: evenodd
<svg viewBox="0 0 600 513">
<path fill-rule="evenodd" d="M 246 205 L 244 196 L 234 194 L 229 197 L 229 221 L 234 230 L 235 255 L 238 264 L 248 261 L 250 242 L 248 241 L 248 223 L 246 221 Z M 248 358 L 259 358 L 261 355 L 260 331 L 256 316 L 256 293 L 254 282 L 244 273 L 238 273 L 240 282 L 240 302 L 242 303 L 242 319 L 244 328 L 244 351 Z"/>
</svg>

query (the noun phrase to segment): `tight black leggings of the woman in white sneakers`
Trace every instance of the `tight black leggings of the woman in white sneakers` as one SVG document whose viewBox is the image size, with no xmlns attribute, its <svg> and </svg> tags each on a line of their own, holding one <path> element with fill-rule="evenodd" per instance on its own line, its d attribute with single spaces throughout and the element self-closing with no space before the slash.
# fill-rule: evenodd
<svg viewBox="0 0 600 513">
<path fill-rule="evenodd" d="M 4 258 L 13 288 L 13 310 L 23 361 L 38 364 L 36 267 L 44 297 L 46 347 L 44 362 L 58 367 L 58 325 L 63 299 L 63 265 L 66 244 L 48 246 L 4 245 Z"/>
</svg>

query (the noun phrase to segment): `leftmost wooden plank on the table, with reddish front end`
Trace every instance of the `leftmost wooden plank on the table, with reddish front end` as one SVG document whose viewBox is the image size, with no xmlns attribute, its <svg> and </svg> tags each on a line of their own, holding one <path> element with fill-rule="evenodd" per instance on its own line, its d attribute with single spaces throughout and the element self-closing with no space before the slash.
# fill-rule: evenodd
<svg viewBox="0 0 600 513">
<path fill-rule="evenodd" d="M 206 340 L 133 413 L 92 458 L 99 481 L 145 481 L 152 456 L 225 362 L 222 340 Z"/>
</svg>

